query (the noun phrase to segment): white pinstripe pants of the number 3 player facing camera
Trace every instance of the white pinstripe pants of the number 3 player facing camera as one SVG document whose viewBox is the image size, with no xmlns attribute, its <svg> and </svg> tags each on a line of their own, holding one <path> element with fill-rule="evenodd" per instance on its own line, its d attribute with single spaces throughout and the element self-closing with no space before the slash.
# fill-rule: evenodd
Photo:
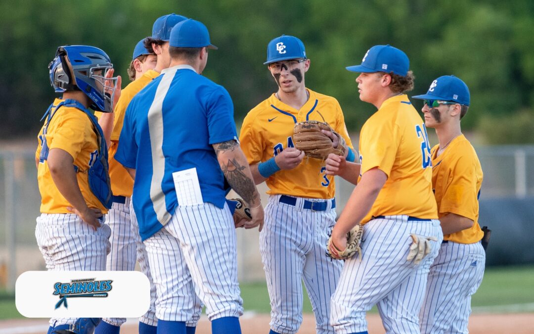
<svg viewBox="0 0 534 334">
<path fill-rule="evenodd" d="M 303 198 L 297 197 L 295 206 L 279 203 L 279 199 L 280 195 L 269 197 L 260 233 L 260 253 L 271 300 L 270 327 L 284 334 L 299 330 L 304 281 L 317 333 L 333 333 L 328 323 L 330 298 L 343 262 L 326 256 L 328 232 L 336 218 L 335 209 L 330 207 L 332 201 L 328 201 L 326 211 L 311 211 L 303 209 Z"/>
</svg>

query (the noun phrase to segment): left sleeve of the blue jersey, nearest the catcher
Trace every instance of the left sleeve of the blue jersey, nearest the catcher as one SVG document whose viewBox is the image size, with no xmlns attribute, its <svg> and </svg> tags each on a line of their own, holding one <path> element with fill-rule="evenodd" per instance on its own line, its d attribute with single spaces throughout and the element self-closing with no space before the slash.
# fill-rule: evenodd
<svg viewBox="0 0 534 334">
<path fill-rule="evenodd" d="M 137 160 L 137 143 L 135 141 L 135 129 L 133 129 L 134 112 L 132 112 L 135 105 L 135 103 L 130 103 L 126 109 L 119 137 L 119 146 L 117 146 L 117 152 L 115 153 L 115 160 L 119 161 L 122 166 L 131 169 L 136 169 Z"/>
</svg>

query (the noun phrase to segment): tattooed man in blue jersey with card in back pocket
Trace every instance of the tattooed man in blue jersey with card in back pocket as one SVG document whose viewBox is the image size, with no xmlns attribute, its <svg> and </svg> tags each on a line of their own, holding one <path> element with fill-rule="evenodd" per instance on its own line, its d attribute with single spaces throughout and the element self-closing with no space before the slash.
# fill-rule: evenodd
<svg viewBox="0 0 534 334">
<path fill-rule="evenodd" d="M 230 96 L 199 74 L 208 48 L 215 46 L 201 22 L 188 19 L 172 28 L 170 67 L 132 99 L 115 154 L 135 178 L 133 207 L 156 285 L 158 332 L 186 332 L 195 294 L 214 333 L 241 332 L 236 238 L 224 177 L 250 206 L 246 228 L 263 224 Z"/>
</svg>

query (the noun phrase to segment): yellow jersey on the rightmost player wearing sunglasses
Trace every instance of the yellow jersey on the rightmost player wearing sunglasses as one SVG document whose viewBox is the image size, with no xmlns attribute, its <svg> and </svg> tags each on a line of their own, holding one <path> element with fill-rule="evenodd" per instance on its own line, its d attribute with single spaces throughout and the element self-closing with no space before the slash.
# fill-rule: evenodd
<svg viewBox="0 0 534 334">
<path fill-rule="evenodd" d="M 475 149 L 464 135 L 454 138 L 437 156 L 439 145 L 432 148 L 432 185 L 439 218 L 448 213 L 474 221 L 473 227 L 445 235 L 443 240 L 460 244 L 479 242 L 484 232 L 478 225 L 478 197 L 482 185 L 482 167 Z"/>
</svg>

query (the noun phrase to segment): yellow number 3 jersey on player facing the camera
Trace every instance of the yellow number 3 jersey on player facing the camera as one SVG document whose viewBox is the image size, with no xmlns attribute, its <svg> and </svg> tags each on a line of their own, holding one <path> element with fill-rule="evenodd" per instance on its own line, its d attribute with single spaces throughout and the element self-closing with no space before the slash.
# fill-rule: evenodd
<svg viewBox="0 0 534 334">
<path fill-rule="evenodd" d="M 294 147 L 291 135 L 295 123 L 306 120 L 326 121 L 352 148 L 341 106 L 333 97 L 308 89 L 310 97 L 300 110 L 282 103 L 274 94 L 254 107 L 241 126 L 241 149 L 254 165 L 276 156 L 286 147 Z M 333 198 L 334 177 L 326 175 L 325 162 L 304 158 L 299 166 L 279 170 L 267 178 L 270 195 L 307 198 Z"/>
</svg>

